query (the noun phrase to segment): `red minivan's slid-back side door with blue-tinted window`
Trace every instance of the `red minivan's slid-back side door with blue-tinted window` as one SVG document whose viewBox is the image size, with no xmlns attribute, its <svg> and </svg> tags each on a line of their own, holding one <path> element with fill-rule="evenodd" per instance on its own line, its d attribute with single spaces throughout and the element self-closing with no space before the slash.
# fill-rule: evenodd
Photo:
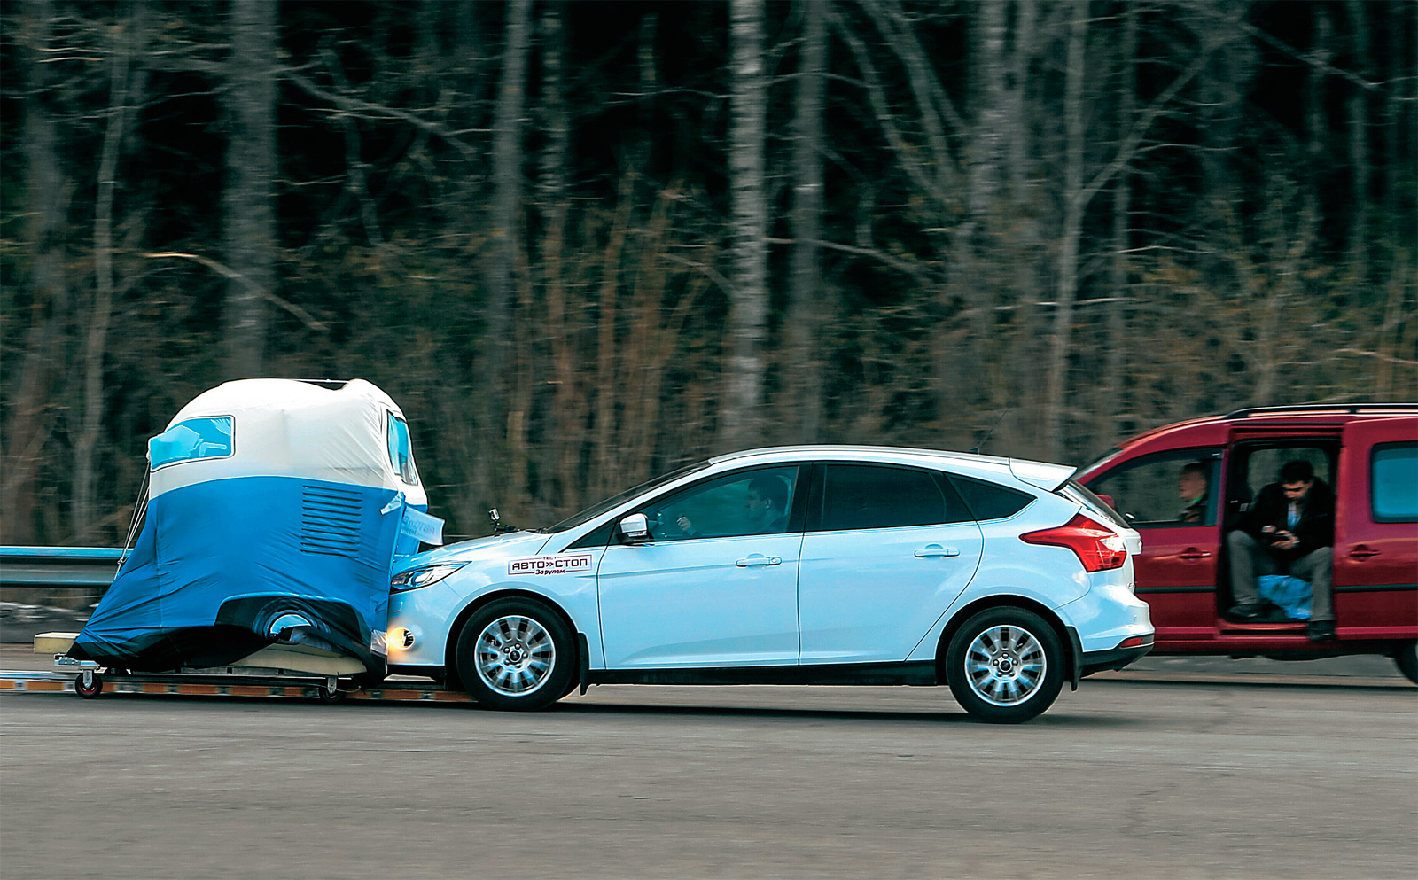
<svg viewBox="0 0 1418 880">
<path fill-rule="evenodd" d="M 1418 419 L 1344 425 L 1334 510 L 1334 619 L 1349 638 L 1418 626 Z"/>
</svg>

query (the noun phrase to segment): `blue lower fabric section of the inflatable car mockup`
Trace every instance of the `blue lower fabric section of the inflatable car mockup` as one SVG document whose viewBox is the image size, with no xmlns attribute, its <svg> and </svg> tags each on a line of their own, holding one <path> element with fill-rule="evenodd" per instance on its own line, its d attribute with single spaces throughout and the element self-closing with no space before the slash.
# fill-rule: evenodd
<svg viewBox="0 0 1418 880">
<path fill-rule="evenodd" d="M 133 554 L 75 648 L 135 669 L 172 663 L 174 652 L 182 665 L 199 665 L 193 652 L 220 665 L 274 643 L 274 615 L 298 611 L 315 624 L 303 643 L 373 669 L 370 631 L 387 625 L 401 519 L 397 504 L 381 510 L 394 495 L 284 476 L 164 492 L 149 503 Z M 203 635 L 194 628 L 213 629 Z M 145 663 L 145 652 L 152 662 Z M 234 656 L 214 659 L 228 653 Z"/>
</svg>

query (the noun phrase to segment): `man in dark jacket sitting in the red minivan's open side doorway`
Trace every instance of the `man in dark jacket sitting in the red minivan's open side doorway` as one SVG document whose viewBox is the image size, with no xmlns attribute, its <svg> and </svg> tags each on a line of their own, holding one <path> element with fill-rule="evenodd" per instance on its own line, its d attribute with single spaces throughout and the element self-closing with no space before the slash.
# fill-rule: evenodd
<svg viewBox="0 0 1418 880">
<path fill-rule="evenodd" d="M 1334 638 L 1332 565 L 1334 561 L 1334 493 L 1314 479 L 1306 461 L 1286 462 L 1279 482 L 1256 496 L 1239 527 L 1227 536 L 1231 550 L 1231 595 L 1235 607 L 1228 616 L 1254 621 L 1263 604 L 1256 575 L 1289 574 L 1310 582 L 1313 642 Z"/>
</svg>

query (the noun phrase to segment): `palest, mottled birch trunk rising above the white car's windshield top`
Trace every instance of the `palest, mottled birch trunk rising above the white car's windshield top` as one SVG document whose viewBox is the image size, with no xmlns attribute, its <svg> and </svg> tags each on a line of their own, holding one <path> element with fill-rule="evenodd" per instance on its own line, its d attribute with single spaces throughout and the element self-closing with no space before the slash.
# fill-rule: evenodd
<svg viewBox="0 0 1418 880">
<path fill-rule="evenodd" d="M 761 435 L 763 349 L 769 323 L 769 230 L 764 200 L 767 74 L 763 67 L 763 0 L 730 0 L 729 44 L 732 122 L 729 187 L 733 272 L 725 344 L 727 400 L 719 436 L 726 449 L 753 445 Z"/>
</svg>

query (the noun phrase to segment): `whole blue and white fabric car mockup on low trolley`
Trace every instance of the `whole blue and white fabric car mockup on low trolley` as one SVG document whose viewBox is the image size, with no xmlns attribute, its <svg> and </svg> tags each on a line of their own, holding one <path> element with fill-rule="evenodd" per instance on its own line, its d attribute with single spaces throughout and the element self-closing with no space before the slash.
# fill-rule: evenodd
<svg viewBox="0 0 1418 880">
<path fill-rule="evenodd" d="M 442 541 L 387 394 L 363 380 L 233 381 L 147 449 L 142 530 L 72 659 L 386 675 L 396 560 Z"/>
</svg>

